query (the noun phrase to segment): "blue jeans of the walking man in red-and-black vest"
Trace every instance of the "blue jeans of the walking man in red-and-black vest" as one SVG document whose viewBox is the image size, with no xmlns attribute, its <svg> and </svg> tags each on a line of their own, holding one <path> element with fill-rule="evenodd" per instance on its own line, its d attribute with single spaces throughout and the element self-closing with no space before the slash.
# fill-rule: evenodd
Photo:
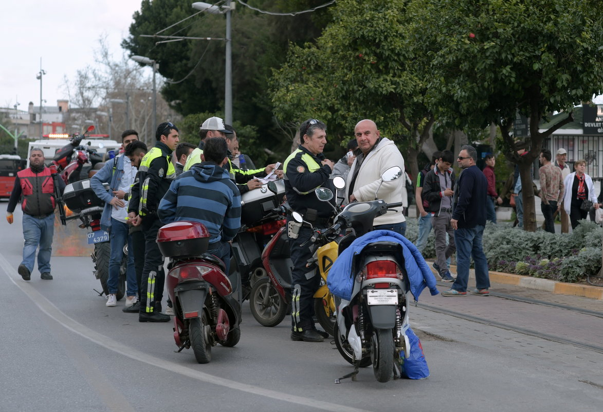
<svg viewBox="0 0 603 412">
<path fill-rule="evenodd" d="M 52 236 L 54 235 L 54 213 L 39 219 L 31 215 L 23 214 L 23 247 L 22 265 L 33 272 L 34 261 L 36 261 L 36 249 L 38 252 L 38 270 L 40 273 L 50 273 L 50 256 L 52 255 Z"/>
</svg>

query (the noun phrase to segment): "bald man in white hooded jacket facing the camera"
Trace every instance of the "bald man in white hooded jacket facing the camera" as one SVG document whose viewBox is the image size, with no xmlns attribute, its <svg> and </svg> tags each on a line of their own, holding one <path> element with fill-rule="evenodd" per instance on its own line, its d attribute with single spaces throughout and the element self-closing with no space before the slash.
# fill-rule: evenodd
<svg viewBox="0 0 603 412">
<path fill-rule="evenodd" d="M 381 184 L 381 174 L 392 166 L 400 166 L 404 170 L 404 158 L 393 141 L 383 138 L 377 130 L 377 125 L 372 120 L 361 120 L 354 128 L 354 135 L 358 141 L 358 153 L 352 164 L 352 169 L 347 176 L 348 196 L 352 201 L 374 200 L 375 192 Z M 376 197 L 387 203 L 402 200 L 404 180 L 397 179 L 393 182 L 383 182 Z M 388 211 L 385 215 L 376 217 L 374 229 L 393 230 L 404 236 L 406 233 L 406 218 L 403 208 Z"/>
</svg>

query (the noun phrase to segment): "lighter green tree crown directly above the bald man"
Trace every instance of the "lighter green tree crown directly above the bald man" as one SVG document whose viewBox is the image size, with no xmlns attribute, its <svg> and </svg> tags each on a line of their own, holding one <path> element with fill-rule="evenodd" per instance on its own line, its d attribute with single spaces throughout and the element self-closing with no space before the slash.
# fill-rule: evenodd
<svg viewBox="0 0 603 412">
<path fill-rule="evenodd" d="M 405 48 L 405 0 L 341 0 L 333 22 L 315 43 L 292 46 L 274 72 L 271 95 L 280 119 L 320 118 L 330 130 L 353 135 L 362 119 L 393 139 L 417 176 L 417 154 L 434 113 L 424 102 L 425 80 Z"/>
</svg>

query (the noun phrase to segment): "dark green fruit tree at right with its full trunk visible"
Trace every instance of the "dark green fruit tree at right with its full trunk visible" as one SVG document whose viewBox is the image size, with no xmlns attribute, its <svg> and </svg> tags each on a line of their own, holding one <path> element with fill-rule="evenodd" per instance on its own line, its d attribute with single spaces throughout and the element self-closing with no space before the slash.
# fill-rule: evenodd
<svg viewBox="0 0 603 412">
<path fill-rule="evenodd" d="M 425 73 L 427 104 L 457 127 L 500 128 L 519 165 L 525 230 L 536 229 L 530 168 L 543 140 L 572 110 L 603 92 L 603 14 L 595 0 L 413 0 L 408 43 Z M 516 114 L 529 118 L 529 153 L 519 157 Z M 567 116 L 548 130 L 549 113 Z"/>
</svg>

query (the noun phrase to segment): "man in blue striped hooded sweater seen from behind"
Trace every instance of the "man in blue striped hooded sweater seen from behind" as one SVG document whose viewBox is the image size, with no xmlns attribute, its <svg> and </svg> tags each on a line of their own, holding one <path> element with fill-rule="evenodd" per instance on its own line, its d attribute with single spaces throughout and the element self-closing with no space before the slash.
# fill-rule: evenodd
<svg viewBox="0 0 603 412">
<path fill-rule="evenodd" d="M 211 235 L 207 252 L 222 259 L 229 274 L 229 241 L 241 228 L 241 194 L 223 168 L 228 162 L 227 150 L 223 138 L 207 139 L 204 161 L 172 182 L 157 215 L 164 224 L 178 220 L 203 223 Z"/>
</svg>

